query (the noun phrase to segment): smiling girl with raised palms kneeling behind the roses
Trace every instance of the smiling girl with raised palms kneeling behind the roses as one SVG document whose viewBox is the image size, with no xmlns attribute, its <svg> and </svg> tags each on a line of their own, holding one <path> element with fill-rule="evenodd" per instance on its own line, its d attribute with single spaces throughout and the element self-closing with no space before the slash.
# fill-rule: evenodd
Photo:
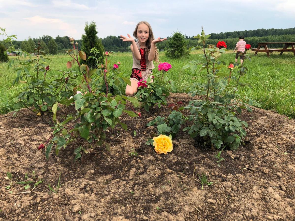
<svg viewBox="0 0 295 221">
<path fill-rule="evenodd" d="M 149 75 L 153 73 L 155 68 L 153 60 L 159 62 L 159 53 L 156 43 L 166 40 L 164 39 L 154 39 L 154 34 L 150 24 L 148 22 L 142 21 L 138 22 L 133 36 L 138 40 L 135 42 L 133 37 L 120 36 L 123 41 L 132 42 L 130 49 L 132 51 L 133 65 L 132 73 L 130 76 L 131 86 L 127 85 L 125 93 L 126 95 L 134 95 L 137 92 L 137 83 L 140 80 L 146 80 Z"/>
</svg>

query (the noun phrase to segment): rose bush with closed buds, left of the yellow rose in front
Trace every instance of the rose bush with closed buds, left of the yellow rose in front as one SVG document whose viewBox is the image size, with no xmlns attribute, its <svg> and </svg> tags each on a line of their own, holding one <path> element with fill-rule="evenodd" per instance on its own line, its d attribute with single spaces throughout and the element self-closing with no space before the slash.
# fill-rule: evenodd
<svg viewBox="0 0 295 221">
<path fill-rule="evenodd" d="M 131 102 L 133 106 L 139 105 L 138 100 L 134 97 L 126 97 L 121 94 L 109 93 L 110 82 L 117 81 L 113 72 L 118 68 L 118 65 L 114 65 L 109 68 L 110 63 L 108 57 L 110 53 L 105 53 L 105 66 L 100 65 L 99 69 L 90 69 L 88 65 L 80 64 L 78 56 L 82 60 L 86 60 L 86 54 L 83 51 L 78 50 L 78 43 L 74 44 L 74 39 L 70 38 L 73 49 L 67 53 L 72 57 L 71 61 L 67 62 L 67 67 L 71 68 L 75 63 L 79 66 L 80 74 L 83 76 L 82 82 L 77 86 L 83 90 L 82 93 L 77 93 L 73 98 L 63 101 L 63 104 L 71 105 L 75 103 L 75 109 L 77 111 L 76 116 L 70 116 L 65 121 L 59 122 L 56 118 L 56 112 L 58 103 L 53 105 L 53 121 L 55 122 L 55 129 L 53 135 L 47 140 L 45 144 L 41 144 L 39 149 L 45 148 L 45 156 L 49 157 L 52 146 L 55 145 L 55 154 L 58 155 L 61 148 L 66 148 L 68 144 L 73 141 L 84 140 L 81 146 L 75 149 L 75 159 L 81 157 L 81 153 L 88 153 L 89 148 L 95 148 L 97 146 L 105 145 L 107 150 L 110 150 L 110 144 L 105 141 L 106 130 L 108 128 L 114 128 L 119 123 L 122 128 L 127 130 L 126 124 L 120 121 L 119 117 L 123 112 L 127 113 L 131 117 L 136 116 L 136 112 L 132 106 L 127 103 Z M 95 49 L 93 49 L 94 56 L 98 55 Z M 97 57 L 96 67 L 99 66 Z M 116 68 L 115 68 L 116 67 Z M 129 79 L 124 79 L 129 85 L 131 82 Z M 120 80 L 118 80 L 120 82 Z M 76 89 L 77 89 L 76 88 Z M 126 110 L 129 106 L 133 111 Z M 68 122 L 71 122 L 74 126 L 68 126 Z M 50 139 L 53 137 L 52 142 Z M 49 145 L 47 145 L 50 142 Z"/>
</svg>

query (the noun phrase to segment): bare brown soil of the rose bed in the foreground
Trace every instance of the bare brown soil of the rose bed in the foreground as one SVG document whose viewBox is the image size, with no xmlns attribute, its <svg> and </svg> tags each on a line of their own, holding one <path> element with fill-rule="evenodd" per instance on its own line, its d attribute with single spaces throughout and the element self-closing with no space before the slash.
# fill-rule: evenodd
<svg viewBox="0 0 295 221">
<path fill-rule="evenodd" d="M 172 94 L 168 102 L 190 99 Z M 170 109 L 141 112 L 137 119 L 123 116 L 128 131 L 108 131 L 110 152 L 100 147 L 81 161 L 73 161 L 77 143 L 58 157 L 53 151 L 48 161 L 44 150 L 37 150 L 52 133 L 49 116 L 35 117 L 27 110 L 0 116 L 0 220 L 295 219 L 293 119 L 259 108 L 243 112 L 240 118 L 249 125 L 244 145 L 224 151 L 225 161 L 218 166 L 217 151 L 204 149 L 182 131 L 172 152 L 157 154 L 145 144 L 156 128 L 145 125 L 148 118 L 168 116 Z M 75 110 L 59 113 L 60 119 Z M 129 156 L 132 149 L 138 156 Z M 6 172 L 12 173 L 11 182 Z M 26 173 L 28 180 L 42 183 L 25 190 L 16 182 Z M 203 173 L 213 184 L 201 190 Z M 56 189 L 59 176 L 62 186 L 52 193 L 48 184 Z"/>
</svg>

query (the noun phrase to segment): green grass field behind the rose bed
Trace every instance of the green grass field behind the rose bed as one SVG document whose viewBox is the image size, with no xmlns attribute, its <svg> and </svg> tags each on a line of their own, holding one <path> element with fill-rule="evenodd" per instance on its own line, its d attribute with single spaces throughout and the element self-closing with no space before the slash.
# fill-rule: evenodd
<svg viewBox="0 0 295 221">
<path fill-rule="evenodd" d="M 252 52 L 247 52 L 254 54 Z M 176 82 L 178 92 L 186 92 L 185 86 L 191 85 L 193 82 L 203 82 L 205 72 L 192 73 L 190 69 L 181 70 L 188 64 L 190 60 L 199 59 L 201 52 L 193 52 L 188 58 L 168 59 L 163 52 L 160 52 L 160 60 L 169 62 L 172 69 L 168 74 L 170 78 Z M 52 76 L 58 74 L 56 70 L 67 70 L 66 62 L 70 60 L 68 55 L 48 56 L 52 61 L 48 63 L 50 70 L 47 75 Z M 15 57 L 11 57 L 15 59 Z M 117 53 L 109 57 L 111 65 L 121 62 L 119 70 L 124 77 L 129 77 L 132 67 L 131 53 Z M 235 53 L 227 52 L 220 59 L 226 63 L 235 61 Z M 255 100 L 266 110 L 275 110 L 278 113 L 286 114 L 295 118 L 295 57 L 293 53 L 284 53 L 279 56 L 278 53 L 272 53 L 268 58 L 265 53 L 253 56 L 251 61 L 245 61 L 249 71 L 247 75 L 241 77 L 241 82 L 252 85 L 252 88 L 243 87 L 241 90 L 248 94 L 248 97 Z M 75 65 L 72 70 L 78 70 Z M 158 72 L 157 68 L 153 70 Z M 221 71 L 228 72 L 224 67 Z M 5 114 L 12 110 L 9 101 L 22 88 L 24 83 L 12 86 L 16 74 L 13 69 L 7 70 L 7 63 L 0 63 L 0 113 Z"/>
</svg>

